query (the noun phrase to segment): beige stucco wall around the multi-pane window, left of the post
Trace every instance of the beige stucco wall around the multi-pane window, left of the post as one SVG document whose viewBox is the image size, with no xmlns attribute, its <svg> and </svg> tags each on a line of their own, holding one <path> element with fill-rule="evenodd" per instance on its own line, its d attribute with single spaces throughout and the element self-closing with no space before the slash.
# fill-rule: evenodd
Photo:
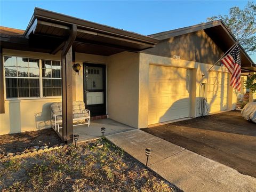
<svg viewBox="0 0 256 192">
<path fill-rule="evenodd" d="M 51 55 L 47 53 L 3 49 L 3 54 L 36 59 L 60 60 L 60 53 Z M 52 102 L 59 101 L 61 101 L 61 97 L 5 99 L 5 113 L 0 114 L 0 135 L 49 128 L 50 105 Z"/>
</svg>

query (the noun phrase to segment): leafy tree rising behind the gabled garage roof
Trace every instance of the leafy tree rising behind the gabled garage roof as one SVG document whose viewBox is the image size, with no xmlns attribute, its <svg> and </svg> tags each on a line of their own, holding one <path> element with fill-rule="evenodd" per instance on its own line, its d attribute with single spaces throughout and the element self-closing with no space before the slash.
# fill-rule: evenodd
<svg viewBox="0 0 256 192">
<path fill-rule="evenodd" d="M 247 53 L 256 52 L 256 4 L 248 2 L 243 10 L 231 7 L 229 15 L 207 18 L 207 21 L 222 19 Z"/>
</svg>

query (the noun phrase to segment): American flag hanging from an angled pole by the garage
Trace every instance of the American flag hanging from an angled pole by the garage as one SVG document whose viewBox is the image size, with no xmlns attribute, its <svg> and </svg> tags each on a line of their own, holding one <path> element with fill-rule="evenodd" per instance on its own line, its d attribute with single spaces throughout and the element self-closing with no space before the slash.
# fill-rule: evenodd
<svg viewBox="0 0 256 192">
<path fill-rule="evenodd" d="M 220 60 L 231 74 L 230 85 L 240 91 L 241 89 L 241 58 L 238 45 Z"/>
</svg>

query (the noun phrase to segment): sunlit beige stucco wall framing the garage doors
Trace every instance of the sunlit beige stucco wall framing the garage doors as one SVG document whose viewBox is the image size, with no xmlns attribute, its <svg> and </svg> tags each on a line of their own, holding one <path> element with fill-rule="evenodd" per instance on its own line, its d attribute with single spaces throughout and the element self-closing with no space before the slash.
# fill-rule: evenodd
<svg viewBox="0 0 256 192">
<path fill-rule="evenodd" d="M 199 86 L 201 83 L 208 82 L 208 70 L 212 65 L 199 63 L 195 61 L 187 61 L 181 59 L 173 59 L 169 57 L 161 57 L 146 53 L 140 53 L 140 74 L 139 74 L 139 122 L 138 127 L 143 128 L 148 126 L 148 86 L 149 86 L 149 65 L 162 65 L 170 67 L 181 67 L 192 69 L 192 82 L 190 94 L 190 117 L 199 115 Z M 221 71 L 227 73 L 227 69 L 221 66 L 214 66 L 211 71 Z M 228 109 L 235 109 L 236 94 L 232 87 L 229 86 Z"/>
</svg>

